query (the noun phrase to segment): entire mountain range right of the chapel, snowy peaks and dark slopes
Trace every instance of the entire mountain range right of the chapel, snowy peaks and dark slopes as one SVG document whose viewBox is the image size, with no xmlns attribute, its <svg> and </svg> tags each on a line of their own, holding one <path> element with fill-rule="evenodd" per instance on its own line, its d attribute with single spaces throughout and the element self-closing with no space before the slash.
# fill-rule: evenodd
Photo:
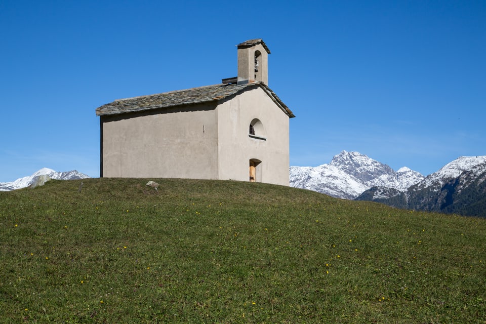
<svg viewBox="0 0 486 324">
<path fill-rule="evenodd" d="M 486 217 L 486 156 L 460 156 L 424 177 L 407 167 L 393 171 L 359 152 L 342 151 L 329 165 L 291 167 L 290 184 L 401 209 Z"/>
</svg>

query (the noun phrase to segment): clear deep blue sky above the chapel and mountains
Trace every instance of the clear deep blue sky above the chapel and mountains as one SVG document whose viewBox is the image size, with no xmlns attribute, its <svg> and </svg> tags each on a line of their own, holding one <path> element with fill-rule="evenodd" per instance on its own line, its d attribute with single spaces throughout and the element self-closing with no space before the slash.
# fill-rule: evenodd
<svg viewBox="0 0 486 324">
<path fill-rule="evenodd" d="M 486 155 L 486 1 L 0 1 L 0 182 L 99 176 L 115 99 L 236 76 L 262 38 L 290 164 L 342 150 L 424 175 Z"/>
</svg>

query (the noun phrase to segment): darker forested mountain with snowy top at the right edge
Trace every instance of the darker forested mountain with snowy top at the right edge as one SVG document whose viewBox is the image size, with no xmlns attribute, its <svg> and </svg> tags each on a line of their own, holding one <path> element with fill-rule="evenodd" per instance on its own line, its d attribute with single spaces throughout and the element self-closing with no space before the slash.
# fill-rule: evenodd
<svg viewBox="0 0 486 324">
<path fill-rule="evenodd" d="M 398 208 L 486 217 L 486 156 L 461 156 L 406 191 L 372 187 L 356 199 Z"/>
</svg>

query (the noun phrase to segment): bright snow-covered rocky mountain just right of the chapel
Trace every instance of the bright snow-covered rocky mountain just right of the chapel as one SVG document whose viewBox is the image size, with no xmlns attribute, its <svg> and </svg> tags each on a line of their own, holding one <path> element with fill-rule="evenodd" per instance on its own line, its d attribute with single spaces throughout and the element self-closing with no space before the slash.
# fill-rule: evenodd
<svg viewBox="0 0 486 324">
<path fill-rule="evenodd" d="M 354 199 L 374 186 L 405 191 L 424 178 L 409 168 L 403 167 L 395 172 L 388 165 L 364 154 L 347 151 L 335 155 L 330 164 L 290 168 L 292 187 L 344 199 Z"/>
</svg>

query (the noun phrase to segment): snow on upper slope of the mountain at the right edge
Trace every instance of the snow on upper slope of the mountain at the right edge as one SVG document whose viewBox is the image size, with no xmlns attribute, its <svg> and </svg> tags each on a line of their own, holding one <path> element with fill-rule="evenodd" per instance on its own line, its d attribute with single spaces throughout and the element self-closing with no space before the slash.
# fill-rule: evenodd
<svg viewBox="0 0 486 324">
<path fill-rule="evenodd" d="M 486 155 L 460 156 L 443 166 L 439 171 L 428 175 L 424 181 L 414 187 L 414 191 L 428 187 L 433 191 L 437 191 L 449 180 L 458 178 L 464 171 L 472 170 L 479 174 L 484 172 L 484 169 L 486 169 Z"/>
</svg>

